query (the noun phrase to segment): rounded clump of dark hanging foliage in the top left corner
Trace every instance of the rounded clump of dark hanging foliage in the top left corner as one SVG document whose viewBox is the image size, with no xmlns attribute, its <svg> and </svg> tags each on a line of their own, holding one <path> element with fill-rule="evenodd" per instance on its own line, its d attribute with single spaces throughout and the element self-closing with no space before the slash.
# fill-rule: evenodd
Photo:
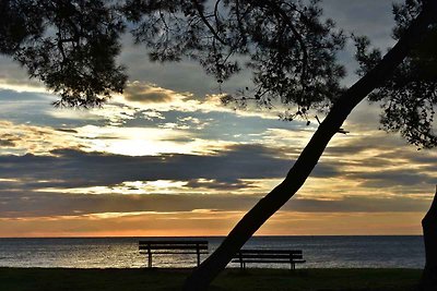
<svg viewBox="0 0 437 291">
<path fill-rule="evenodd" d="M 125 23 L 105 2 L 2 0 L 0 52 L 60 95 L 56 105 L 98 106 L 127 81 L 115 64 Z"/>
</svg>

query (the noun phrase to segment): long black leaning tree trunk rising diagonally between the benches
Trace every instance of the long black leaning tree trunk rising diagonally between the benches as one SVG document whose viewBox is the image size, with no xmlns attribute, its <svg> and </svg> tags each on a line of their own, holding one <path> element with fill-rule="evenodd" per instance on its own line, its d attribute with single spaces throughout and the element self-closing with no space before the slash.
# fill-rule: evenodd
<svg viewBox="0 0 437 291">
<path fill-rule="evenodd" d="M 392 75 L 411 48 L 423 39 L 428 25 L 437 19 L 437 0 L 429 0 L 426 5 L 379 64 L 339 98 L 287 173 L 285 180 L 243 217 L 218 248 L 187 278 L 184 290 L 206 290 L 211 281 L 226 267 L 233 255 L 300 189 L 314 167 L 316 167 L 329 141 L 340 130 L 351 111 L 373 89 Z"/>
</svg>

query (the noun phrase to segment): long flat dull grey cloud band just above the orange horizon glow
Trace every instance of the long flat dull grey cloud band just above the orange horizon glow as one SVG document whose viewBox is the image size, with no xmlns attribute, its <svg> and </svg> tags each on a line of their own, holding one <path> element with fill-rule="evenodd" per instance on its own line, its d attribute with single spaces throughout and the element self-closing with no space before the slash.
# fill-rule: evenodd
<svg viewBox="0 0 437 291">
<path fill-rule="evenodd" d="M 259 195 L 86 195 L 69 193 L 2 192 L 0 218 L 76 216 L 90 214 L 137 211 L 188 213 L 203 209 L 246 213 L 260 199 Z M 292 198 L 282 211 L 297 213 L 425 213 L 429 197 L 363 197 L 344 196 L 338 199 Z"/>
</svg>

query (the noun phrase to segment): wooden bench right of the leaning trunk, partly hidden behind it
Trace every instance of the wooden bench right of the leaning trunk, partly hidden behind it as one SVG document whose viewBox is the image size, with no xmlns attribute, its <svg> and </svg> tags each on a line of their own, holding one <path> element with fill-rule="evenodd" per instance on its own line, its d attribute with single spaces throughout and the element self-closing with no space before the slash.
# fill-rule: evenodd
<svg viewBox="0 0 437 291">
<path fill-rule="evenodd" d="M 296 264 L 305 263 L 300 250 L 240 250 L 235 254 L 232 263 L 239 263 L 241 269 L 246 269 L 247 263 L 259 264 L 290 264 L 292 270 Z"/>
</svg>

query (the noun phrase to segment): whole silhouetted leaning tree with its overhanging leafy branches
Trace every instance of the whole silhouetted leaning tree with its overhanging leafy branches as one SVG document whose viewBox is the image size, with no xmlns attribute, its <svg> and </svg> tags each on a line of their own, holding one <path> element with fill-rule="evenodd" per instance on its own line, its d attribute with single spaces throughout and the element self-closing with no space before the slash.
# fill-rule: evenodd
<svg viewBox="0 0 437 291">
<path fill-rule="evenodd" d="M 326 112 L 285 180 L 231 231 L 187 279 L 185 290 L 204 290 L 244 243 L 304 184 L 332 136 L 367 96 L 382 105 L 381 124 L 410 143 L 430 148 L 437 104 L 437 1 L 394 5 L 397 44 L 383 57 L 365 37 L 354 37 L 362 77 L 340 85 L 335 58 L 346 35 L 322 21 L 318 0 L 3 0 L 0 52 L 11 56 L 61 96 L 58 105 L 94 106 L 126 83 L 115 64 L 119 35 L 133 27 L 135 40 L 155 61 L 197 59 L 220 83 L 241 69 L 253 72 L 253 88 L 223 101 L 270 107 L 280 100 L 286 120 Z M 127 26 L 126 23 L 129 25 Z M 434 204 L 433 204 L 434 205 Z M 435 207 L 432 207 L 432 209 Z M 434 217 L 434 216 L 427 216 Z M 426 222 L 428 219 L 425 219 Z M 435 223 L 423 223 L 425 242 Z M 432 242 L 434 242 L 432 240 Z M 437 286 L 437 258 L 426 243 L 424 290 Z"/>
</svg>

